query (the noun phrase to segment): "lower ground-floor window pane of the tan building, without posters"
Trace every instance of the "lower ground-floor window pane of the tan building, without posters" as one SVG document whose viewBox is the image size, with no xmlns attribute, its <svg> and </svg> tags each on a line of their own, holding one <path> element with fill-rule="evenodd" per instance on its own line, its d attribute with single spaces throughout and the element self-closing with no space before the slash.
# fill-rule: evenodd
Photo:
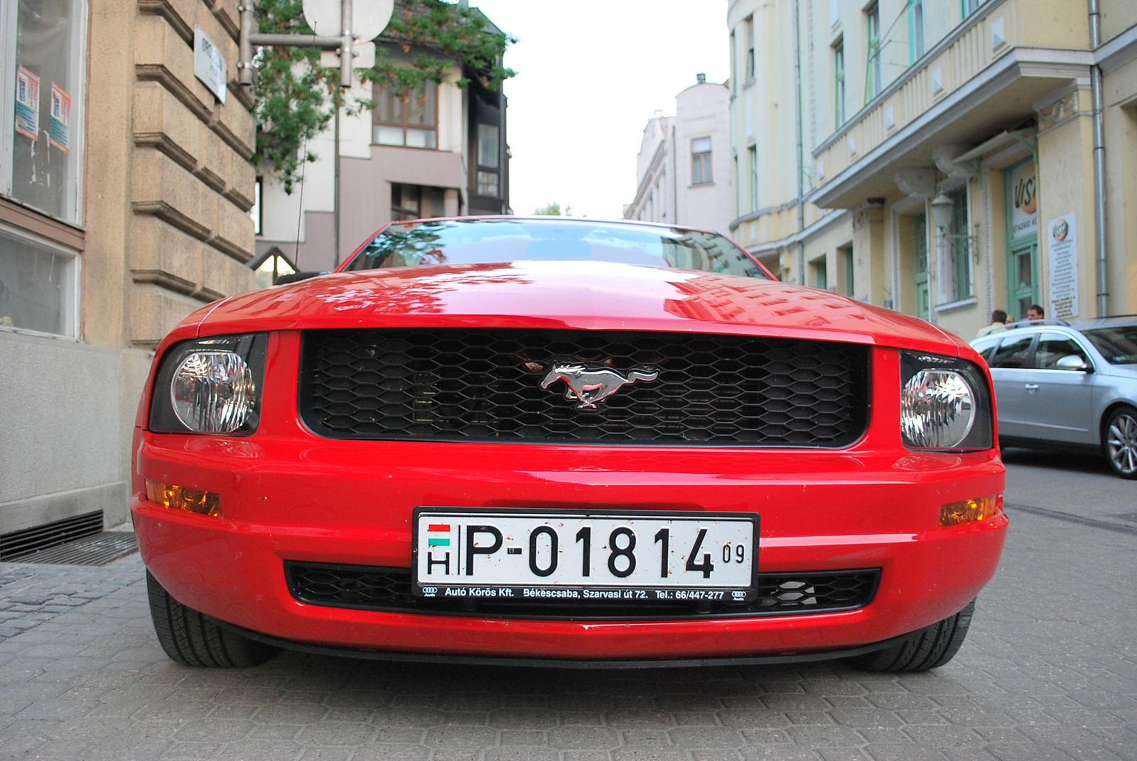
<svg viewBox="0 0 1137 761">
<path fill-rule="evenodd" d="M 78 334 L 78 256 L 14 228 L 0 228 L 0 325 Z"/>
</svg>

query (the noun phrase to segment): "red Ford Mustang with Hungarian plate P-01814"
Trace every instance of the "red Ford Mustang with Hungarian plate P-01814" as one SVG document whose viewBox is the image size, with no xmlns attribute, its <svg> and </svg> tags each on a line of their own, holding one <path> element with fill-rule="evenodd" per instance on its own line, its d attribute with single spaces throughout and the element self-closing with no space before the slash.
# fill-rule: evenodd
<svg viewBox="0 0 1137 761">
<path fill-rule="evenodd" d="M 986 365 L 711 232 L 396 223 L 158 348 L 133 515 L 192 665 L 946 663 L 1006 529 Z"/>
</svg>

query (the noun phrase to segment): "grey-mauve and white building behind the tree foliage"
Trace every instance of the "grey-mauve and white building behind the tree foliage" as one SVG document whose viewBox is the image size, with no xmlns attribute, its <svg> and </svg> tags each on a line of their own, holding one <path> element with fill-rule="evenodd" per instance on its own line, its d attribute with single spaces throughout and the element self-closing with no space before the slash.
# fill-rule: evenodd
<svg viewBox="0 0 1137 761">
<path fill-rule="evenodd" d="M 407 64 L 417 52 L 383 36 L 376 44 Z M 304 167 L 291 193 L 277 181 L 262 182 L 251 264 L 266 273 L 274 266 L 326 271 L 395 220 L 509 213 L 506 99 L 476 76 L 459 88 L 464 74 L 472 72 L 455 63 L 443 83 L 426 82 L 408 93 L 357 80 L 348 102 L 372 100 L 375 108 L 341 116 L 339 166 L 329 125 L 308 144 L 317 159 Z"/>
</svg>

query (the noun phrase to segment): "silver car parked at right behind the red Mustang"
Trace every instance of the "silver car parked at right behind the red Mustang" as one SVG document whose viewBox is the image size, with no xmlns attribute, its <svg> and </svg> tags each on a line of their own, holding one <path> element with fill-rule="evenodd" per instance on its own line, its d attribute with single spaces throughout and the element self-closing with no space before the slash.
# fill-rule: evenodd
<svg viewBox="0 0 1137 761">
<path fill-rule="evenodd" d="M 1137 316 L 1019 322 L 971 346 L 995 379 L 1004 446 L 1101 452 L 1137 479 Z"/>
</svg>

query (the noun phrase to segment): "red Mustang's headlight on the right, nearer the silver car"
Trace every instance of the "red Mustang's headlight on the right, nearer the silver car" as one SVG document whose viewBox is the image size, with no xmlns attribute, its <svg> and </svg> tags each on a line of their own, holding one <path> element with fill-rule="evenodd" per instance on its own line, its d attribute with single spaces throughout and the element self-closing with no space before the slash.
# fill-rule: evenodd
<svg viewBox="0 0 1137 761">
<path fill-rule="evenodd" d="M 901 435 L 912 449 L 989 449 L 987 381 L 966 359 L 901 355 Z"/>
</svg>

